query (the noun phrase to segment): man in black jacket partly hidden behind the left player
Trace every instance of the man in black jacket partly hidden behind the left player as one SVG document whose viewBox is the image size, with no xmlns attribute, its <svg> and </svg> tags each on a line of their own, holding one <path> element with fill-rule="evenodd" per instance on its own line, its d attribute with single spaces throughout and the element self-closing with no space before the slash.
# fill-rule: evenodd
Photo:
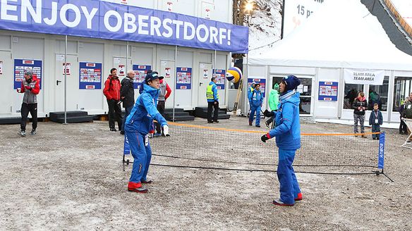
<svg viewBox="0 0 412 231">
<path fill-rule="evenodd" d="M 135 104 L 135 89 L 133 88 L 133 79 L 135 77 L 134 70 L 129 70 L 123 80 L 121 80 L 120 99 L 123 101 L 123 108 L 125 114 L 123 117 L 123 126 L 121 126 L 120 134 L 124 135 L 124 123 L 127 116 L 131 113 L 133 105 Z"/>
</svg>

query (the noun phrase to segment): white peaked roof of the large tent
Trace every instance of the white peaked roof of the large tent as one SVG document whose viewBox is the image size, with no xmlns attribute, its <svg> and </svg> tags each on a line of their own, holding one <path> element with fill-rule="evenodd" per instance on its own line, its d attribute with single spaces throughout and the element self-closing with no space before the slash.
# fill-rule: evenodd
<svg viewBox="0 0 412 231">
<path fill-rule="evenodd" d="M 365 16 L 366 15 L 366 16 Z M 392 44 L 360 0 L 328 0 L 272 49 L 249 65 L 412 70 L 412 56 Z"/>
</svg>

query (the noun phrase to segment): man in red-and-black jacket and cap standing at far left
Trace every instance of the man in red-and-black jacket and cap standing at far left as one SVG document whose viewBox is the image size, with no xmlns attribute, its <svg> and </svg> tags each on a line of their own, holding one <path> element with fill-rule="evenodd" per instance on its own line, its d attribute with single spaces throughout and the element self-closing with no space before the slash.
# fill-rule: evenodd
<svg viewBox="0 0 412 231">
<path fill-rule="evenodd" d="M 21 123 L 19 135 L 25 136 L 25 123 L 28 120 L 28 115 L 32 115 L 32 131 L 30 135 L 35 135 L 37 128 L 37 94 L 40 92 L 40 80 L 33 74 L 32 70 L 26 70 L 24 80 L 21 82 L 21 89 L 18 88 L 18 93 L 24 93 L 23 104 L 21 104 Z"/>
</svg>

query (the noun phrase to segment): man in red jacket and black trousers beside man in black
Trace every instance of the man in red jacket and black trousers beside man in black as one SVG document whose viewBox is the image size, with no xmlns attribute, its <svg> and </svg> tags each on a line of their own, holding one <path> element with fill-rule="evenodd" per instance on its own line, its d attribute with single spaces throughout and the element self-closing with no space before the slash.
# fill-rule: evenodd
<svg viewBox="0 0 412 231">
<path fill-rule="evenodd" d="M 121 107 L 120 101 L 120 80 L 117 77 L 117 69 L 111 68 L 110 75 L 107 77 L 106 82 L 104 82 L 103 94 L 106 96 L 107 105 L 109 105 L 109 127 L 111 131 L 116 132 L 114 128 L 114 120 L 117 121 L 119 130 L 121 130 Z"/>
</svg>

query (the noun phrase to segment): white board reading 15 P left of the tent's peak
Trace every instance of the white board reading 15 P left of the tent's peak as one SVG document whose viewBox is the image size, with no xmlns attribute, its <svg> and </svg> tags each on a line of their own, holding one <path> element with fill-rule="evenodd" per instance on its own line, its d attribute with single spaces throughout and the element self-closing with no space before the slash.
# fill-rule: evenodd
<svg viewBox="0 0 412 231">
<path fill-rule="evenodd" d="M 323 2 L 324 0 L 285 0 L 284 37 L 305 23 L 310 15 L 313 15 L 322 6 Z"/>
</svg>

